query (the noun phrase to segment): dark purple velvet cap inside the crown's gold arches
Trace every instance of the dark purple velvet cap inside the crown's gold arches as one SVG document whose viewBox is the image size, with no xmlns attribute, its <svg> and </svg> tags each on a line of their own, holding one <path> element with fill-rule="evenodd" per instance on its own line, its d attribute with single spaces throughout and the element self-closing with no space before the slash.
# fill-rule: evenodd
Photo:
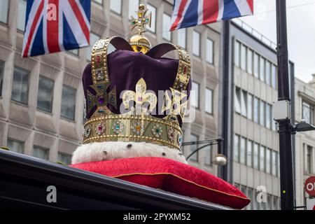
<svg viewBox="0 0 315 224">
<path fill-rule="evenodd" d="M 110 83 L 107 92 L 110 92 L 113 90 L 113 87 L 116 86 L 116 100 L 118 105 L 117 109 L 110 104 L 107 106 L 111 112 L 120 114 L 120 105 L 123 102 L 122 99 L 120 99 L 121 92 L 125 90 L 135 91 L 139 79 L 144 78 L 146 81 L 146 90 L 155 92 L 158 97 L 158 90 L 169 90 L 169 88 L 173 86 L 179 66 L 179 60 L 165 57 L 153 58 L 144 55 L 141 52 L 133 52 L 130 50 L 116 50 L 107 55 L 107 64 Z M 90 87 L 90 85 L 93 84 L 91 64 L 87 64 L 85 67 L 82 79 L 83 91 L 85 99 L 87 99 L 87 90 L 92 94 L 95 94 L 94 90 Z M 189 80 L 187 87 L 188 94 L 190 89 L 191 79 Z M 87 104 L 87 102 L 85 102 L 85 104 Z M 85 106 L 87 108 L 87 105 Z M 89 119 L 95 110 L 96 106 L 94 106 L 94 109 L 92 109 L 89 114 L 86 113 L 86 118 Z M 153 116 L 157 118 L 164 117 L 162 115 Z"/>
</svg>

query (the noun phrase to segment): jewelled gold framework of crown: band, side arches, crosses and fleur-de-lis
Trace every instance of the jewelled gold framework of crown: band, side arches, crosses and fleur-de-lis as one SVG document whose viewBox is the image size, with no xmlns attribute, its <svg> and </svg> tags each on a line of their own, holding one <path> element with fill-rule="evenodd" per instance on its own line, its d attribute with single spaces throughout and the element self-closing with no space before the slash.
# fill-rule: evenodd
<svg viewBox="0 0 315 224">
<path fill-rule="evenodd" d="M 179 149 L 181 147 L 182 132 L 177 116 L 183 116 L 187 101 L 181 104 L 187 97 L 183 90 L 187 90 L 190 78 L 190 57 L 183 48 L 173 45 L 179 55 L 179 67 L 176 78 L 170 90 L 172 97 L 165 94 L 163 111 L 169 110 L 165 118 L 155 118 L 141 106 L 148 102 L 148 110 L 152 111 L 157 104 L 157 97 L 153 93 L 146 92 L 146 82 L 140 79 L 136 85 L 136 91 L 128 90 L 123 94 L 123 104 L 128 108 L 129 102 L 136 103 L 136 109 L 126 114 L 113 114 L 107 107 L 111 104 L 117 109 L 116 88 L 108 90 L 109 73 L 107 66 L 107 49 L 109 43 L 116 36 L 102 38 L 94 43 L 92 48 L 92 81 L 90 85 L 96 94 L 87 91 L 87 114 L 97 106 L 91 118 L 85 122 L 83 132 L 83 144 L 102 141 L 146 141 L 153 144 Z M 176 106 L 175 106 L 176 105 Z M 137 107 L 141 109 L 140 115 L 134 113 Z"/>
</svg>

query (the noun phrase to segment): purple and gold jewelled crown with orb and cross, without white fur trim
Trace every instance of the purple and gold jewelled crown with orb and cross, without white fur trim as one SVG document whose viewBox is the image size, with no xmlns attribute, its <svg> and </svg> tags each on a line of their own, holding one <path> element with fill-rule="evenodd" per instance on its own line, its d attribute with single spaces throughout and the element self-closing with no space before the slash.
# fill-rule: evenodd
<svg viewBox="0 0 315 224">
<path fill-rule="evenodd" d="M 147 142 L 180 149 L 186 112 L 190 57 L 183 48 L 162 43 L 151 48 L 142 36 L 151 23 L 144 5 L 132 18 L 136 36 L 94 43 L 91 63 L 83 72 L 85 125 L 83 144 L 106 141 Z M 116 51 L 107 54 L 109 44 Z M 179 59 L 162 57 L 170 51 Z"/>
</svg>

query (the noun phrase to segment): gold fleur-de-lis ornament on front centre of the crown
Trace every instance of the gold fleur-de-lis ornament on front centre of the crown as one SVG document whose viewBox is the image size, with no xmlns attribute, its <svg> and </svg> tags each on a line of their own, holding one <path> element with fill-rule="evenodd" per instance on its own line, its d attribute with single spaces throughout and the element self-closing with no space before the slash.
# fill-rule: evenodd
<svg viewBox="0 0 315 224">
<path fill-rule="evenodd" d="M 132 110 L 132 113 L 135 112 L 136 115 L 141 115 L 148 113 L 148 111 L 152 112 L 158 103 L 158 98 L 153 92 L 146 91 L 146 81 L 140 78 L 136 85 L 136 92 L 128 90 L 123 93 L 125 109 L 129 109 L 131 101 L 136 103 L 136 108 Z M 144 107 L 144 103 L 146 102 L 149 104 L 148 109 Z"/>
</svg>

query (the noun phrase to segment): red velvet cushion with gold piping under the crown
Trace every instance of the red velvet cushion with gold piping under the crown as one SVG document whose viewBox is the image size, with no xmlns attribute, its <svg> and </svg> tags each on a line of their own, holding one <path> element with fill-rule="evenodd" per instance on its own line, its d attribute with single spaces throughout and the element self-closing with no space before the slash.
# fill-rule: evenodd
<svg viewBox="0 0 315 224">
<path fill-rule="evenodd" d="M 71 167 L 235 209 L 242 209 L 250 202 L 246 195 L 230 183 L 196 167 L 165 158 L 105 160 L 80 163 Z"/>
</svg>

